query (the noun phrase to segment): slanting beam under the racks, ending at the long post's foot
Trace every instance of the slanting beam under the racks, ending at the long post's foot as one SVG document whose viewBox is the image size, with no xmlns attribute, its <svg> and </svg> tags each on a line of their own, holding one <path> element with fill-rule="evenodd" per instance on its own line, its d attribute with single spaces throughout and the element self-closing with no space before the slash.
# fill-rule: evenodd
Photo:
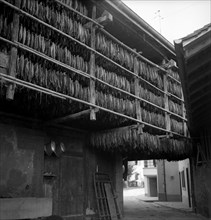
<svg viewBox="0 0 211 220">
<path fill-rule="evenodd" d="M 97 109 L 97 108 L 94 108 L 93 110 L 95 111 L 95 113 L 99 111 L 99 109 Z M 71 115 L 66 115 L 64 117 L 60 117 L 60 118 L 50 120 L 50 121 L 47 122 L 47 124 L 55 124 L 55 123 L 61 123 L 61 122 L 67 121 L 67 120 L 75 120 L 75 119 L 78 119 L 78 118 L 81 118 L 85 115 L 90 114 L 91 111 L 92 111 L 91 109 L 86 109 L 86 110 L 83 110 L 81 112 L 77 112 L 77 113 L 74 113 L 74 114 L 71 114 Z"/>
</svg>

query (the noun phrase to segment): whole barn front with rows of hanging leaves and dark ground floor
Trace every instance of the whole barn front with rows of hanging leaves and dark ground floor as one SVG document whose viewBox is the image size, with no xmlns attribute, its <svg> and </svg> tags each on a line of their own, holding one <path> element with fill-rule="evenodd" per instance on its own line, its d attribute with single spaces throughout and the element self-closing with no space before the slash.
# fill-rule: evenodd
<svg viewBox="0 0 211 220">
<path fill-rule="evenodd" d="M 0 219 L 100 218 L 94 174 L 122 210 L 122 158 L 189 156 L 173 45 L 121 1 L 0 12 Z"/>
</svg>

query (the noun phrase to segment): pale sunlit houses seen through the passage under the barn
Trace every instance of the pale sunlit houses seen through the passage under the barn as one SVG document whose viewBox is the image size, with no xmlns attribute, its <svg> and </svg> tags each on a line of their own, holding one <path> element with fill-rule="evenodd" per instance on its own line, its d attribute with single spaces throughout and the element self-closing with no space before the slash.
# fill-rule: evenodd
<svg viewBox="0 0 211 220">
<path fill-rule="evenodd" d="M 182 201 L 191 207 L 191 178 L 189 159 L 168 162 L 166 160 L 130 161 L 133 167 L 129 186 L 142 186 L 145 195 L 158 197 L 160 201 Z"/>
</svg>

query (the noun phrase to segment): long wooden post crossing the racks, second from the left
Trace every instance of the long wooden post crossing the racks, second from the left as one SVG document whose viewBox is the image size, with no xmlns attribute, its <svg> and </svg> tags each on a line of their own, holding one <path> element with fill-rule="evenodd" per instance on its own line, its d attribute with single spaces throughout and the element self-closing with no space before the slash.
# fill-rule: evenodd
<svg viewBox="0 0 211 220">
<path fill-rule="evenodd" d="M 96 19 L 96 6 L 92 9 L 92 19 Z M 91 48 L 95 49 L 95 30 L 96 27 L 92 24 L 91 26 Z M 95 53 L 91 51 L 90 57 L 90 76 L 95 76 Z M 95 93 L 95 80 L 90 78 L 90 103 L 95 104 L 96 93 Z M 96 120 L 96 111 L 91 107 L 90 120 Z"/>
</svg>

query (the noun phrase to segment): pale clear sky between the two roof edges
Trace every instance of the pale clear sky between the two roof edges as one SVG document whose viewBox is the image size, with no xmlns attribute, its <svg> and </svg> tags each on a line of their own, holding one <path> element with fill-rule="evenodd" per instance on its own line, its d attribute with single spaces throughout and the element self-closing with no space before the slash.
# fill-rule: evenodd
<svg viewBox="0 0 211 220">
<path fill-rule="evenodd" d="M 123 0 L 173 44 L 211 23 L 211 0 Z"/>
</svg>

